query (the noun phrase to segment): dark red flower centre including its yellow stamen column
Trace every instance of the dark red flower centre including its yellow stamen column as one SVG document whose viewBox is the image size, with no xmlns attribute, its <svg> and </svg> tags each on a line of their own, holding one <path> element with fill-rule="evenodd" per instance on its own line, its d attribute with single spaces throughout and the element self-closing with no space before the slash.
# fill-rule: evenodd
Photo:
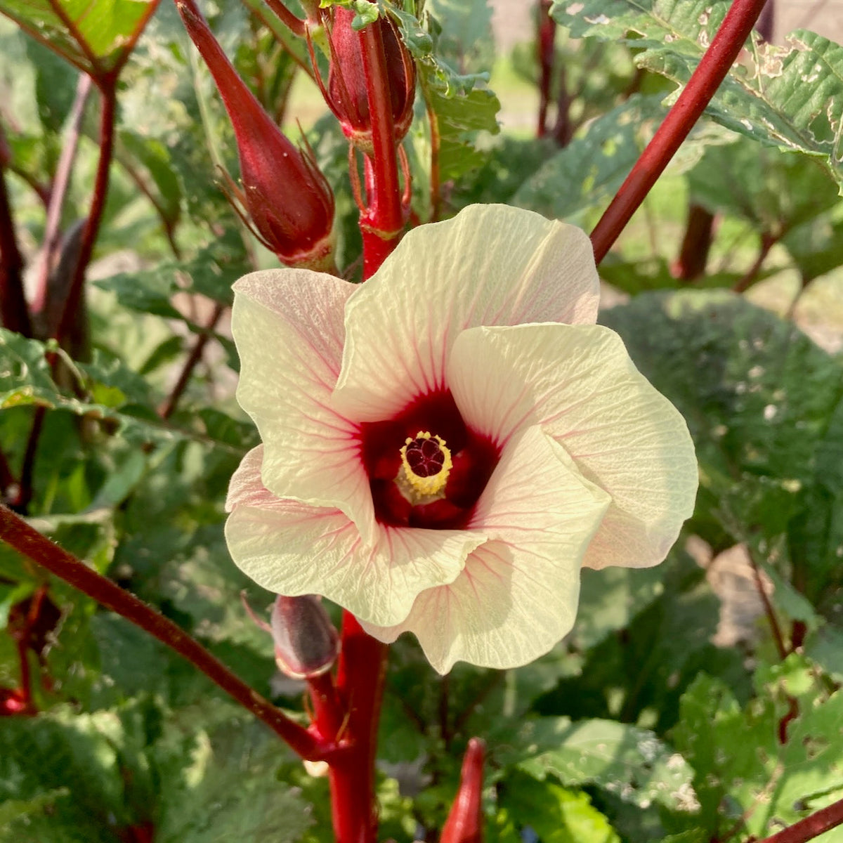
<svg viewBox="0 0 843 843">
<path fill-rule="evenodd" d="M 360 441 L 375 516 L 391 526 L 464 528 L 500 457 L 466 426 L 447 389 L 363 423 Z"/>
</svg>

